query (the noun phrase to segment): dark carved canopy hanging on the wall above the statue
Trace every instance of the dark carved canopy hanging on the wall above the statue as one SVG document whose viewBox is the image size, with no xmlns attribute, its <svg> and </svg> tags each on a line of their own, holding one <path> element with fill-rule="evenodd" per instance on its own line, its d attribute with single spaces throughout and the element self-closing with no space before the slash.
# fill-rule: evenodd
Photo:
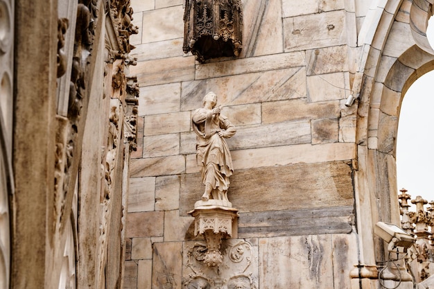
<svg viewBox="0 0 434 289">
<path fill-rule="evenodd" d="M 196 60 L 238 56 L 242 48 L 240 0 L 186 0 L 184 53 Z"/>
</svg>

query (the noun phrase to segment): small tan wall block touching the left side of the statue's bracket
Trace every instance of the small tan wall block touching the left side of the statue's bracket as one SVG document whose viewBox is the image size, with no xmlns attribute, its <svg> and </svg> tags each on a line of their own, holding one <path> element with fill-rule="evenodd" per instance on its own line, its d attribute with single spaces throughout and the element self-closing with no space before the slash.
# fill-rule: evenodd
<svg viewBox="0 0 434 289">
<path fill-rule="evenodd" d="M 191 208 L 193 209 L 193 208 Z M 194 218 L 180 216 L 179 210 L 164 213 L 164 242 L 182 241 Z"/>
</svg>

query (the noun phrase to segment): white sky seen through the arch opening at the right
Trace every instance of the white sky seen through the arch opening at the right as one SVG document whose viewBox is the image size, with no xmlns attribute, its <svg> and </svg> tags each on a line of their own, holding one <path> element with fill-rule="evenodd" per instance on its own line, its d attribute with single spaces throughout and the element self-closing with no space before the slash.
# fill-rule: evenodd
<svg viewBox="0 0 434 289">
<path fill-rule="evenodd" d="M 434 17 L 428 25 L 434 47 Z M 398 189 L 434 200 L 434 71 L 424 74 L 403 98 L 397 138 Z"/>
</svg>

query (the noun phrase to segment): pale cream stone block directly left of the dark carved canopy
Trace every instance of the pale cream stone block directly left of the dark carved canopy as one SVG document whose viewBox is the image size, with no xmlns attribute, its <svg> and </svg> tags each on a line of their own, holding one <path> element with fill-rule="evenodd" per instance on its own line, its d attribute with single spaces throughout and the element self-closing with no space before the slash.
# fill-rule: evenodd
<svg viewBox="0 0 434 289">
<path fill-rule="evenodd" d="M 158 0 L 156 2 L 161 1 Z M 170 19 L 170 21 L 164 21 L 162 14 L 165 15 L 166 19 Z M 182 25 L 183 15 L 184 9 L 182 9 L 181 5 L 144 12 L 142 43 L 182 37 L 184 35 L 184 25 Z"/>
</svg>

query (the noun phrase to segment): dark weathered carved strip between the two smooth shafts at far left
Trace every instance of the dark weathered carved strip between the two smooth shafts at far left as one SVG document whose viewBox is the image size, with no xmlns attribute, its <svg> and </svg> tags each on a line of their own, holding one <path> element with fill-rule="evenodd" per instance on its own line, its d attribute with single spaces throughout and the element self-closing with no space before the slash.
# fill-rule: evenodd
<svg viewBox="0 0 434 289">
<path fill-rule="evenodd" d="M 62 227 L 64 218 L 64 204 L 67 195 L 73 193 L 71 182 L 71 166 L 73 166 L 74 154 L 77 154 L 77 146 L 80 145 L 79 128 L 83 127 L 80 123 L 83 105 L 87 100 L 84 98 L 89 94 L 89 56 L 92 51 L 94 41 L 94 26 L 96 25 L 96 6 L 94 1 L 79 1 L 77 8 L 76 33 L 73 46 L 73 55 L 67 59 L 67 55 L 62 53 L 64 46 L 64 33 L 66 32 L 69 20 L 60 19 L 58 23 L 58 77 L 64 73 L 67 67 L 66 62 L 71 62 L 71 80 L 69 83 L 69 102 L 67 118 L 58 116 L 58 131 L 56 132 L 56 152 L 55 152 L 55 227 Z M 76 158 L 75 161 L 79 161 Z M 74 179 L 75 180 L 75 179 Z M 72 187 L 72 189 L 71 189 Z M 63 221 L 64 222 L 64 221 Z"/>
</svg>

